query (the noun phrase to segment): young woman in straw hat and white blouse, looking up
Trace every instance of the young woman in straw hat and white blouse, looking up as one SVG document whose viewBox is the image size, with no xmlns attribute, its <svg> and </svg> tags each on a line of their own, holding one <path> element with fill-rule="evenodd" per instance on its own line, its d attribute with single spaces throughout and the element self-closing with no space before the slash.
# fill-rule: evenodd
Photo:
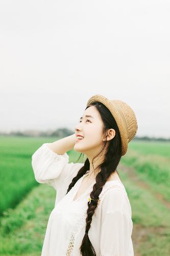
<svg viewBox="0 0 170 256">
<path fill-rule="evenodd" d="M 116 168 L 136 132 L 130 106 L 98 94 L 88 100 L 75 134 L 33 154 L 36 181 L 57 191 L 41 256 L 134 255 L 131 205 Z M 85 163 L 68 163 L 71 148 L 87 156 Z"/>
</svg>

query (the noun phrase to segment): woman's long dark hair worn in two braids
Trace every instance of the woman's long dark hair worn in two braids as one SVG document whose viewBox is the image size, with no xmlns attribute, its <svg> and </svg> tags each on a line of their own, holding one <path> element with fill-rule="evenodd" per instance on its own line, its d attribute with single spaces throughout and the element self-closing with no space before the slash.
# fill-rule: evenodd
<svg viewBox="0 0 170 256">
<path fill-rule="evenodd" d="M 105 185 L 106 181 L 110 177 L 111 174 L 113 174 L 116 171 L 117 165 L 120 161 L 120 158 L 122 156 L 122 141 L 120 138 L 120 133 L 118 130 L 118 126 L 116 124 L 116 121 L 110 111 L 106 108 L 106 106 L 101 102 L 93 102 L 90 105 L 86 107 L 89 108 L 89 106 L 95 106 L 95 108 L 99 111 L 102 121 L 103 121 L 103 136 L 106 139 L 106 132 L 108 129 L 114 129 L 115 130 L 115 136 L 113 139 L 109 140 L 109 145 L 107 152 L 105 154 L 104 161 L 100 163 L 98 166 L 101 171 L 96 175 L 95 181 L 96 183 L 93 185 L 93 190 L 90 193 L 90 198 L 93 199 L 91 202 L 88 202 L 88 209 L 87 209 L 87 217 L 86 217 L 86 229 L 84 238 L 82 240 L 82 244 L 80 246 L 80 251 L 83 256 L 94 256 L 95 250 L 92 246 L 89 237 L 88 237 L 88 231 L 90 229 L 92 216 L 94 214 L 95 209 L 98 206 L 98 200 L 99 195 L 102 192 L 103 186 Z M 107 144 L 107 140 L 104 141 L 104 145 L 102 147 L 102 150 L 99 154 L 103 153 L 105 147 Z M 82 154 L 82 153 L 81 153 Z M 96 155 L 94 158 L 96 158 Z M 81 156 L 81 155 L 80 155 Z M 80 158 L 80 157 L 79 157 Z M 93 160 L 94 160 L 93 158 Z M 92 160 L 92 164 L 93 164 Z M 69 184 L 67 193 L 69 190 L 76 184 L 76 182 L 84 175 L 86 174 L 87 170 L 90 168 L 90 162 L 88 158 L 85 160 L 84 166 L 81 167 L 76 177 L 72 179 L 72 182 Z M 94 167 L 93 167 L 94 169 Z M 67 194 L 66 193 L 66 194 Z"/>
</svg>

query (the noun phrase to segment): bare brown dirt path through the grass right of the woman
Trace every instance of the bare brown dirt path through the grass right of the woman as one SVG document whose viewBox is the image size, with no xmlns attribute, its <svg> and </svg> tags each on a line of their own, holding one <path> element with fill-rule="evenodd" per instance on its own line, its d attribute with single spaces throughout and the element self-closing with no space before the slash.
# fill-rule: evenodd
<svg viewBox="0 0 170 256">
<path fill-rule="evenodd" d="M 146 190 L 148 190 L 158 201 L 160 201 L 168 210 L 170 210 L 170 202 L 165 200 L 163 196 L 154 191 L 147 183 L 140 180 L 136 175 L 134 168 L 125 166 L 124 164 L 119 164 L 118 168 L 122 170 L 124 173 L 127 173 L 128 177 L 134 181 L 134 183 Z M 140 245 L 147 239 L 149 233 L 162 233 L 164 231 L 164 227 L 143 227 L 140 224 L 133 225 L 132 231 L 132 241 L 134 247 L 134 256 L 141 256 L 139 253 Z"/>
</svg>

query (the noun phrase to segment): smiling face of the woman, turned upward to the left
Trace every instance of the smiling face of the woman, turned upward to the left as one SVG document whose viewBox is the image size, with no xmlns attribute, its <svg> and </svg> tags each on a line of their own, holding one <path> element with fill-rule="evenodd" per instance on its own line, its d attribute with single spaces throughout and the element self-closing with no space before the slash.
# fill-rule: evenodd
<svg viewBox="0 0 170 256">
<path fill-rule="evenodd" d="M 86 117 L 89 115 L 91 117 Z M 74 150 L 92 157 L 101 150 L 103 145 L 103 122 L 101 116 L 94 106 L 89 106 L 84 111 L 79 123 L 75 126 L 75 133 L 84 138 L 76 141 Z"/>
</svg>

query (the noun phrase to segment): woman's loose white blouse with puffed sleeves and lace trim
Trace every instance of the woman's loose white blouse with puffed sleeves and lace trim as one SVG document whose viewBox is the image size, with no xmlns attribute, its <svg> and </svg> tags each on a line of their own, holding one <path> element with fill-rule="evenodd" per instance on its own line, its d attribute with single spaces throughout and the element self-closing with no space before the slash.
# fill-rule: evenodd
<svg viewBox="0 0 170 256">
<path fill-rule="evenodd" d="M 67 153 L 58 155 L 42 144 L 32 155 L 35 179 L 56 190 L 56 201 L 48 219 L 41 256 L 81 256 L 88 198 L 95 181 L 75 201 L 85 175 L 66 194 L 69 184 L 84 163 L 68 163 Z M 87 175 L 87 174 L 86 174 Z M 107 181 L 92 216 L 88 237 L 96 256 L 134 256 L 131 239 L 131 205 L 121 181 Z"/>
</svg>

